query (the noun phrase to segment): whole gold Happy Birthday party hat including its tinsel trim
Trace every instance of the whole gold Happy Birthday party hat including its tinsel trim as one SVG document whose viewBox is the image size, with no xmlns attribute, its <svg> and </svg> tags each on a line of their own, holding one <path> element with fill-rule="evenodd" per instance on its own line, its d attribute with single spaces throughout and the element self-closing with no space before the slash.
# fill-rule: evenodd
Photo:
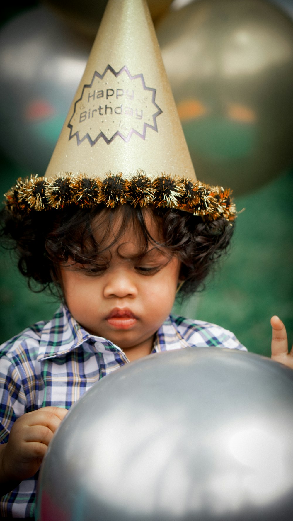
<svg viewBox="0 0 293 521">
<path fill-rule="evenodd" d="M 123 203 L 235 217 L 196 180 L 146 0 L 109 0 L 45 176 L 6 194 L 19 210 Z"/>
</svg>

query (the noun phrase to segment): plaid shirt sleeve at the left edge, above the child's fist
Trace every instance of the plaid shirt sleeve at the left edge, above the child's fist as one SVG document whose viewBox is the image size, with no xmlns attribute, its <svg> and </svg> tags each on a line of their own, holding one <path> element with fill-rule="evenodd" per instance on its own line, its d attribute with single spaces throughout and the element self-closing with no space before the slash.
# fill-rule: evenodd
<svg viewBox="0 0 293 521">
<path fill-rule="evenodd" d="M 24 414 L 26 396 L 17 368 L 8 356 L 0 359 L 0 443 L 7 443 L 12 425 Z"/>
</svg>

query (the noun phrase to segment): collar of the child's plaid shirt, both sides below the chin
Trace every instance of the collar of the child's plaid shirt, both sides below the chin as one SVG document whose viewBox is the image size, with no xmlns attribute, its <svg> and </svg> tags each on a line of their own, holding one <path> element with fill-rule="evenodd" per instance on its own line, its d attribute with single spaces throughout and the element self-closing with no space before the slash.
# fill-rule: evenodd
<svg viewBox="0 0 293 521">
<path fill-rule="evenodd" d="M 95 344 L 96 351 L 121 351 L 109 340 L 88 333 L 73 318 L 69 309 L 61 305 L 52 320 L 47 322 L 42 330 L 37 359 L 42 361 L 46 358 L 65 355 L 83 343 Z M 188 344 L 177 330 L 172 316 L 169 316 L 157 331 L 152 353 L 182 349 L 187 346 Z"/>
</svg>

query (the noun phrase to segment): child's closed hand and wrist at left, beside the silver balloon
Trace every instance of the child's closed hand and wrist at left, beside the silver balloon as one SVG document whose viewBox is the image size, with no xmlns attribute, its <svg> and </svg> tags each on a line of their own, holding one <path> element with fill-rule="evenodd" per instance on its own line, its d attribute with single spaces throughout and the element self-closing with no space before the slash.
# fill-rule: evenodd
<svg viewBox="0 0 293 521">
<path fill-rule="evenodd" d="M 20 416 L 0 457 L 0 479 L 19 483 L 39 469 L 54 432 L 67 413 L 61 407 L 42 407 Z"/>
</svg>

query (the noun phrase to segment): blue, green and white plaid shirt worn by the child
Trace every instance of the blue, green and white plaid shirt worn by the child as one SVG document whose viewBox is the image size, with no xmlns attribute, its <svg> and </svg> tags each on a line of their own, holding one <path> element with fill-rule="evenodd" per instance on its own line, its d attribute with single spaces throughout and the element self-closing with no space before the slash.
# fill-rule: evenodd
<svg viewBox="0 0 293 521">
<path fill-rule="evenodd" d="M 170 316 L 152 352 L 186 346 L 246 349 L 219 326 Z M 47 324 L 37 322 L 0 349 L 1 443 L 22 414 L 48 405 L 69 408 L 93 383 L 129 363 L 117 345 L 87 333 L 63 306 Z M 3 496 L 0 515 L 33 517 L 37 474 Z"/>
</svg>

